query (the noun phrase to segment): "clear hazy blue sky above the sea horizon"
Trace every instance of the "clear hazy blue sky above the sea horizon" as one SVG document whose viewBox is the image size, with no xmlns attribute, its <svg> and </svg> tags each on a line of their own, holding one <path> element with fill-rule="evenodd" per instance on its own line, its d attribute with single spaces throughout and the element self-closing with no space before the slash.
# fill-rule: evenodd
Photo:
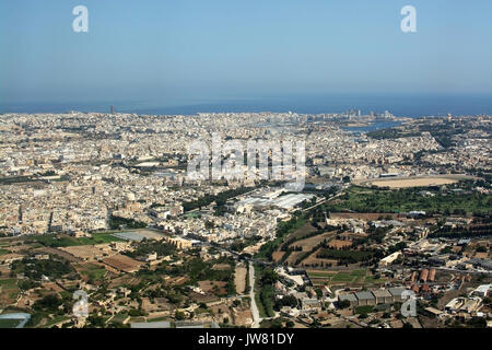
<svg viewBox="0 0 492 350">
<path fill-rule="evenodd" d="M 490 0 L 0 0 L 0 103 L 492 92 Z"/>
</svg>

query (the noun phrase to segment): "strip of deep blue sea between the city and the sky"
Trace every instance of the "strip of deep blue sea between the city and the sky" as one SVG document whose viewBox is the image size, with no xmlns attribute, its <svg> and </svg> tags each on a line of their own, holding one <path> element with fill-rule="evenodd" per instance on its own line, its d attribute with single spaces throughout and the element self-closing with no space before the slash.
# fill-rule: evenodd
<svg viewBox="0 0 492 350">
<path fill-rule="evenodd" d="M 69 110 L 109 113 L 110 106 L 119 113 L 149 115 L 196 115 L 197 113 L 293 112 L 298 114 L 343 113 L 361 109 L 395 116 L 492 115 L 490 94 L 330 94 L 281 97 L 210 100 L 206 103 L 172 103 L 160 101 L 104 102 L 31 102 L 5 103 L 0 100 L 0 114 L 5 113 L 67 113 Z"/>
</svg>

